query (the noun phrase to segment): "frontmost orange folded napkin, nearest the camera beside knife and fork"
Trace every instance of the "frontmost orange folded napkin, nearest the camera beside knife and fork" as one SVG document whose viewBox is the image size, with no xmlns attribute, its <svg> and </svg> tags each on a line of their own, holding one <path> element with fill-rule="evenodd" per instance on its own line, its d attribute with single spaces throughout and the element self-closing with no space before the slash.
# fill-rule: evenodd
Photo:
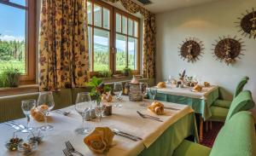
<svg viewBox="0 0 256 156">
<path fill-rule="evenodd" d="M 103 153 L 111 147 L 113 131 L 108 127 L 96 127 L 89 136 L 84 137 L 84 143 L 95 153 Z"/>
</svg>

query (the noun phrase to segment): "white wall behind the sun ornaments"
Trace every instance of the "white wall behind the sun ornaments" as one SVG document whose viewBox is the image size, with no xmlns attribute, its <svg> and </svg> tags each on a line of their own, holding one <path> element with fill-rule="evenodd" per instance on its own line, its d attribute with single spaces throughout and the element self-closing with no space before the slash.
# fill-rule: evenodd
<svg viewBox="0 0 256 156">
<path fill-rule="evenodd" d="M 177 76 L 185 68 L 189 75 L 199 75 L 223 87 L 224 98 L 231 99 L 236 84 L 247 75 L 250 80 L 245 89 L 253 92 L 256 101 L 256 39 L 242 37 L 234 23 L 241 13 L 253 7 L 256 7 L 255 0 L 222 0 L 157 14 L 157 82 L 168 75 Z M 212 57 L 212 43 L 223 35 L 237 35 L 246 44 L 245 55 L 233 66 L 226 66 Z M 194 64 L 183 61 L 178 55 L 179 43 L 189 37 L 200 38 L 205 44 L 201 60 Z M 256 117 L 256 108 L 253 113 Z"/>
</svg>

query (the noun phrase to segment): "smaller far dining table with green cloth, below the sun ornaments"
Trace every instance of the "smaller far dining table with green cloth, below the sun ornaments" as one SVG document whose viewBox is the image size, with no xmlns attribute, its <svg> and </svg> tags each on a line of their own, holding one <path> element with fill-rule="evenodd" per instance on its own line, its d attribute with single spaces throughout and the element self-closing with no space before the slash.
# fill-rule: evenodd
<svg viewBox="0 0 256 156">
<path fill-rule="evenodd" d="M 193 87 L 183 86 L 177 87 L 175 84 L 166 84 L 166 88 L 158 88 L 157 86 L 151 89 L 156 90 L 154 100 L 169 101 L 178 104 L 183 104 L 191 107 L 195 113 L 200 114 L 200 141 L 203 138 L 203 122 L 211 118 L 212 113 L 210 107 L 213 102 L 219 97 L 218 86 L 202 86 L 201 91 L 195 91 Z M 150 90 L 148 90 L 149 98 L 153 98 Z"/>
</svg>

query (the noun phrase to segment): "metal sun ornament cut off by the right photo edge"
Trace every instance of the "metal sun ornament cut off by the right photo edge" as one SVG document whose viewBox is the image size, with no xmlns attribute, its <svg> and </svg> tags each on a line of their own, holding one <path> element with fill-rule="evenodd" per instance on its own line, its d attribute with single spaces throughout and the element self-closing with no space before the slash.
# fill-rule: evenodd
<svg viewBox="0 0 256 156">
<path fill-rule="evenodd" d="M 237 18 L 240 21 L 235 22 L 236 27 L 240 27 L 238 32 L 241 32 L 241 35 L 256 39 L 256 11 L 252 9 L 252 12 L 246 12 L 247 14 L 241 14 L 242 17 Z"/>
</svg>

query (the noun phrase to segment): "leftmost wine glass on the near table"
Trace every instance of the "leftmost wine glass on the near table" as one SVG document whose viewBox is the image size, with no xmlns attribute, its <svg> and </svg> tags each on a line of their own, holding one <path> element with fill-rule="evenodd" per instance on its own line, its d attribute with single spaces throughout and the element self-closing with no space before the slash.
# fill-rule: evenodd
<svg viewBox="0 0 256 156">
<path fill-rule="evenodd" d="M 30 122 L 30 110 L 33 107 L 36 107 L 37 102 L 36 100 L 26 100 L 26 101 L 21 101 L 21 109 L 23 113 L 26 115 L 26 128 L 24 130 L 21 130 L 23 133 L 28 133 L 33 130 L 32 127 L 29 127 L 29 122 Z"/>
</svg>

